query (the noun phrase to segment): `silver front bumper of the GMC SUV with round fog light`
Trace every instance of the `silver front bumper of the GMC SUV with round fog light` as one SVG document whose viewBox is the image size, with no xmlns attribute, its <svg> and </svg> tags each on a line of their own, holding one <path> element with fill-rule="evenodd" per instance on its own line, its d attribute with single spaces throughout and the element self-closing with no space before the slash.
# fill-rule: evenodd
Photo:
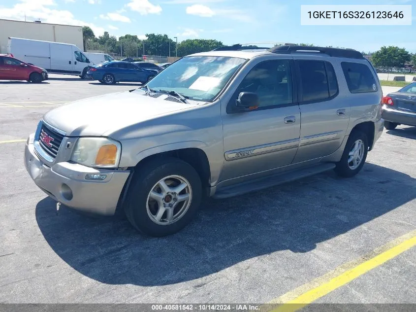
<svg viewBox="0 0 416 312">
<path fill-rule="evenodd" d="M 36 185 L 65 206 L 102 215 L 113 215 L 129 171 L 97 170 L 61 162 L 46 166 L 34 151 L 33 135 L 26 142 L 26 170 Z M 106 174 L 102 181 L 86 180 L 87 173 Z"/>
</svg>

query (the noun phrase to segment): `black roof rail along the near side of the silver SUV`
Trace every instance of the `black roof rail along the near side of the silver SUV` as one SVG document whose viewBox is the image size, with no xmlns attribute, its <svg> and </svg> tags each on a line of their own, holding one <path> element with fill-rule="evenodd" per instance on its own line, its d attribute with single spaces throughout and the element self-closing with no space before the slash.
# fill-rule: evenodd
<svg viewBox="0 0 416 312">
<path fill-rule="evenodd" d="M 268 51 L 273 53 L 293 53 L 298 51 L 316 51 L 320 53 L 324 53 L 329 56 L 334 57 L 345 57 L 350 59 L 364 59 L 362 54 L 353 49 L 341 49 L 341 48 L 325 48 L 325 47 L 316 47 L 316 46 L 302 46 L 302 45 L 279 45 L 275 46 Z"/>
</svg>

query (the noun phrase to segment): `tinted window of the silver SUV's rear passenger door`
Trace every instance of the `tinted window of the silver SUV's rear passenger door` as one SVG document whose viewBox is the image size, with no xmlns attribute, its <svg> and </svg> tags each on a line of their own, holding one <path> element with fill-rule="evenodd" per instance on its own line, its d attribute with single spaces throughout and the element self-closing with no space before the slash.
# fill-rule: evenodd
<svg viewBox="0 0 416 312">
<path fill-rule="evenodd" d="M 335 71 L 329 62 L 297 61 L 301 79 L 302 101 L 325 101 L 338 94 Z"/>
</svg>

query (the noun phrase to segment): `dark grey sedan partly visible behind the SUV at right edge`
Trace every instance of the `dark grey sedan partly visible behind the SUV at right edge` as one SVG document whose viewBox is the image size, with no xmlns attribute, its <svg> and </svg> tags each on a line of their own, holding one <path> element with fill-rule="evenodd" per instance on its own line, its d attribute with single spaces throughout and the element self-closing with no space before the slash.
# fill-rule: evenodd
<svg viewBox="0 0 416 312">
<path fill-rule="evenodd" d="M 416 126 L 416 82 L 383 98 L 382 117 L 387 130 L 398 125 Z"/>
</svg>

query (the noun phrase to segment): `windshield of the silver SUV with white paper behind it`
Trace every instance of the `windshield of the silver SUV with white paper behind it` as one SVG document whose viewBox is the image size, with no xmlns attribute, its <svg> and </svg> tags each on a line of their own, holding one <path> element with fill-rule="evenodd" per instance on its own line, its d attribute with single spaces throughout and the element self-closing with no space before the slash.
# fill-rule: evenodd
<svg viewBox="0 0 416 312">
<path fill-rule="evenodd" d="M 245 59 L 189 56 L 161 71 L 147 83 L 155 91 L 175 91 L 191 100 L 212 102 Z"/>
</svg>

